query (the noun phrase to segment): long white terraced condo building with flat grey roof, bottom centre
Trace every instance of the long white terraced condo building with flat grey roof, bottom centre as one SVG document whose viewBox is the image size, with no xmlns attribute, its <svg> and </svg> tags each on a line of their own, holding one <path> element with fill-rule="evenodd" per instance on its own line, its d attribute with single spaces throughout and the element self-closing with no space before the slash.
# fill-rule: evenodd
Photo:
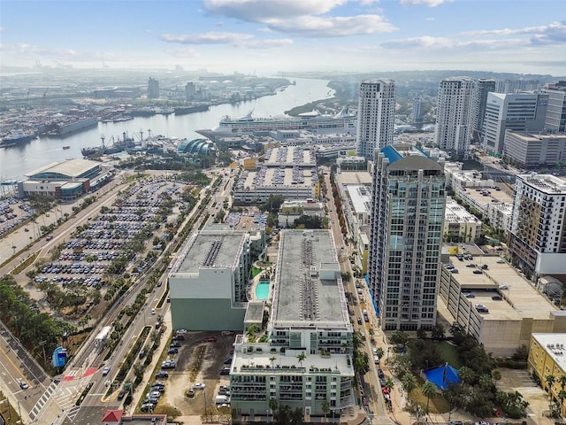
<svg viewBox="0 0 566 425">
<path fill-rule="evenodd" d="M 330 231 L 281 231 L 270 318 L 258 338 L 265 342 L 238 335 L 234 343 L 236 416 L 269 421 L 272 398 L 307 416 L 323 416 L 325 403 L 331 412 L 356 404 L 353 328 Z"/>
</svg>

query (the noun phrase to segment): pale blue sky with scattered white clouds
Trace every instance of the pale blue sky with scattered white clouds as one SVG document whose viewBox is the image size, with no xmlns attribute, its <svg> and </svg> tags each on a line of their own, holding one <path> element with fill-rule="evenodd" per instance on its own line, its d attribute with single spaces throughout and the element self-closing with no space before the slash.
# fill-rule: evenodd
<svg viewBox="0 0 566 425">
<path fill-rule="evenodd" d="M 0 65 L 566 74 L 564 0 L 0 1 Z"/>
</svg>

